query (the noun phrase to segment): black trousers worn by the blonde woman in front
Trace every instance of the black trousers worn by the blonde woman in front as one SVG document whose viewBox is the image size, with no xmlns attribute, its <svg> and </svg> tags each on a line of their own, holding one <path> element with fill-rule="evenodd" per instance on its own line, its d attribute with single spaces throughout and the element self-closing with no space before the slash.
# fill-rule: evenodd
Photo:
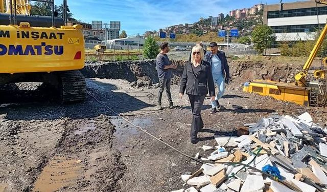
<svg viewBox="0 0 327 192">
<path fill-rule="evenodd" d="M 203 104 L 205 95 L 189 95 L 193 119 L 191 125 L 191 140 L 196 140 L 198 132 L 203 128 L 203 120 L 201 117 L 201 106 Z"/>
</svg>

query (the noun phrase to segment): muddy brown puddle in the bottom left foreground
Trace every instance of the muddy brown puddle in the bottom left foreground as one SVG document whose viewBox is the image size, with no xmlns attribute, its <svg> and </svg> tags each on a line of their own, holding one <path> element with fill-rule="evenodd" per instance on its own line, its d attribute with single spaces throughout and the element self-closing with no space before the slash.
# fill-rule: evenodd
<svg viewBox="0 0 327 192">
<path fill-rule="evenodd" d="M 74 186 L 80 169 L 82 169 L 82 165 L 77 159 L 54 157 L 43 168 L 33 191 L 50 192 L 64 186 Z"/>
</svg>

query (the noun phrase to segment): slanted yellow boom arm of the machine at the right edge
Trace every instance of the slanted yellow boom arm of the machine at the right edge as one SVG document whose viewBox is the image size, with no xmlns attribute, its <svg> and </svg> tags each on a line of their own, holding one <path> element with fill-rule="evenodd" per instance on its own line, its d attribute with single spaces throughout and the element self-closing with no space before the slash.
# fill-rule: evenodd
<svg viewBox="0 0 327 192">
<path fill-rule="evenodd" d="M 325 4 L 327 5 L 327 0 L 315 0 L 316 3 L 318 4 Z M 306 77 L 308 74 L 308 70 L 310 69 L 312 62 L 314 60 L 314 58 L 317 55 L 317 52 L 326 36 L 327 33 L 327 24 L 325 25 L 325 27 L 323 28 L 317 42 L 316 45 L 314 46 L 314 48 L 312 49 L 310 56 L 308 58 L 308 60 L 306 61 L 305 65 L 302 68 L 302 71 L 298 74 L 295 75 L 295 81 L 299 86 L 302 87 L 307 87 L 307 82 L 306 82 Z M 316 78 L 324 78 L 324 71 L 323 70 L 318 70 L 315 72 L 315 77 Z"/>
</svg>

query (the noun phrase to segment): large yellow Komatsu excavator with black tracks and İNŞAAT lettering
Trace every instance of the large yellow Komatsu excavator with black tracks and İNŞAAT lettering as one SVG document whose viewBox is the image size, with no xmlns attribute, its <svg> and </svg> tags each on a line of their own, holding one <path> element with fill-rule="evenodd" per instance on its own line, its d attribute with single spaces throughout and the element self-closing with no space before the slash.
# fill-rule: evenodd
<svg viewBox="0 0 327 192">
<path fill-rule="evenodd" d="M 54 0 L 37 2 L 52 4 L 52 16 L 30 15 L 29 0 L 0 0 L 0 86 L 43 82 L 57 89 L 63 103 L 82 101 L 86 97 L 79 71 L 85 57 L 82 26 L 65 26 Z"/>
</svg>

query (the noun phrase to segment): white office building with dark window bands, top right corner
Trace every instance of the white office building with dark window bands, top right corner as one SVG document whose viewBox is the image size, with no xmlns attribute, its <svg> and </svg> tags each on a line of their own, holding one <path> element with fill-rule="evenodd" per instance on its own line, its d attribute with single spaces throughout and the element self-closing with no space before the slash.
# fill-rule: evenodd
<svg viewBox="0 0 327 192">
<path fill-rule="evenodd" d="M 326 24 L 327 6 L 318 4 L 318 15 L 315 1 L 267 5 L 263 22 L 277 41 L 314 40 L 317 29 Z"/>
</svg>

